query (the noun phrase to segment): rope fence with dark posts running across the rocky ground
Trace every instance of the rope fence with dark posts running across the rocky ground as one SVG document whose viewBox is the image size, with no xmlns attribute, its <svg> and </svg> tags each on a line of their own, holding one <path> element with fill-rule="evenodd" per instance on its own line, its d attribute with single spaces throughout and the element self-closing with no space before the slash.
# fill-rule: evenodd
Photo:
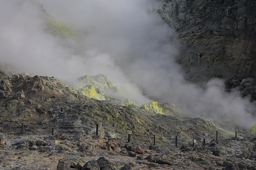
<svg viewBox="0 0 256 170">
<path fill-rule="evenodd" d="M 67 134 L 67 135 L 82 135 L 89 134 L 86 131 L 88 127 L 86 126 L 50 126 L 50 125 L 32 125 L 24 124 L 13 125 L 13 124 L 0 124 L 0 132 L 8 133 L 13 135 L 54 135 L 54 134 Z M 94 129 L 95 130 L 95 129 Z M 131 130 L 119 130 L 114 128 L 109 128 L 106 126 L 100 127 L 100 132 L 109 138 L 116 138 L 121 141 L 133 142 L 137 144 L 153 144 L 161 146 L 184 146 L 186 148 L 206 148 L 212 146 L 214 142 L 218 143 L 219 136 L 218 131 L 206 136 L 202 140 L 196 139 L 183 139 L 178 136 L 175 137 L 157 137 L 156 135 L 145 135 L 140 133 L 133 133 Z M 226 132 L 230 135 L 230 132 Z M 99 125 L 96 124 L 96 135 L 99 134 Z M 232 133 L 234 135 L 234 133 Z M 102 135 L 102 134 L 101 134 Z M 256 132 L 245 132 L 245 130 L 235 129 L 235 139 L 237 137 L 246 135 L 246 137 L 256 137 Z M 251 136 L 249 136 L 251 135 Z M 156 139 L 158 138 L 158 139 Z M 223 137 L 221 137 L 223 139 Z"/>
</svg>

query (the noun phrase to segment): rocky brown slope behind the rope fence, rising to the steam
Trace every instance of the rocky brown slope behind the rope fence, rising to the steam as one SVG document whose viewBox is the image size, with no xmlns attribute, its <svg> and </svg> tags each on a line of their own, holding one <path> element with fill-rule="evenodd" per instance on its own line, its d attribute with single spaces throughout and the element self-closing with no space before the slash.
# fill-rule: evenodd
<svg viewBox="0 0 256 170">
<path fill-rule="evenodd" d="M 71 130 L 69 133 L 91 135 L 95 133 L 98 123 L 100 126 L 123 130 L 125 134 L 126 130 L 142 135 L 158 134 L 159 139 L 177 134 L 186 139 L 200 138 L 208 133 L 215 133 L 218 129 L 225 132 L 212 121 L 182 116 L 184 113 L 174 104 L 159 104 L 163 107 L 163 114 L 160 114 L 154 110 L 132 108 L 111 99 L 90 99 L 54 77 L 15 75 L 1 71 L 0 79 L 2 125 L 19 126 L 24 123 L 87 126 L 85 129 Z M 115 132 L 101 134 L 102 137 L 115 136 Z"/>
</svg>

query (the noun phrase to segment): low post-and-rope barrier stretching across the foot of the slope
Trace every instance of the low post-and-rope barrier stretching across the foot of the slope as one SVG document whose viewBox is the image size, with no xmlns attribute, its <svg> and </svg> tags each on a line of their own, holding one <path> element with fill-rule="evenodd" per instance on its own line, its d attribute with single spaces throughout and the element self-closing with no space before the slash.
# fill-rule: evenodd
<svg viewBox="0 0 256 170">
<path fill-rule="evenodd" d="M 19 128 L 16 128 L 16 127 L 19 127 Z M 90 129 L 90 130 L 88 130 L 88 129 Z M 129 133 L 130 130 L 119 130 L 119 129 L 109 128 L 106 126 L 100 126 L 100 128 L 99 128 L 98 124 L 96 124 L 96 135 L 98 135 L 99 129 L 102 132 L 106 132 L 106 134 L 104 134 L 106 136 L 114 137 L 116 139 L 125 140 L 125 141 L 128 138 L 129 142 L 130 142 L 130 140 L 132 140 L 132 142 L 143 143 L 143 144 L 154 144 L 155 145 L 156 141 L 160 141 L 157 144 L 159 144 L 159 145 L 177 145 L 177 146 L 182 146 L 184 144 L 187 148 L 193 148 L 193 147 L 203 148 L 203 147 L 210 146 L 215 141 L 218 141 L 218 139 L 217 139 L 218 131 L 216 131 L 216 133 L 214 133 L 207 139 L 197 140 L 197 143 L 194 143 L 194 142 L 191 143 L 193 139 L 188 140 L 188 139 L 182 139 L 177 136 L 175 136 L 175 137 L 164 137 L 163 136 L 164 139 L 167 139 L 167 140 L 160 140 L 161 137 L 157 136 L 157 135 L 143 135 L 143 134 L 133 133 L 133 132 Z M 91 133 L 91 132 L 93 132 L 93 130 L 95 130 L 95 128 L 92 128 L 92 126 L 90 126 L 90 127 L 88 127 L 88 126 L 54 126 L 54 125 L 33 125 L 33 124 L 24 124 L 24 123 L 22 123 L 21 125 L 20 124 L 16 124 L 16 125 L 2 124 L 2 125 L 0 125 L 0 132 L 9 133 L 9 134 L 13 134 L 13 135 L 16 135 L 16 134 L 37 135 L 38 133 L 39 133 L 39 135 L 50 135 L 51 132 L 52 132 L 52 135 L 54 133 L 62 133 L 62 134 L 67 134 L 67 135 L 69 135 L 69 134 L 70 135 L 84 135 L 84 134 L 90 135 L 89 132 Z M 125 134 L 121 134 L 122 132 Z M 256 132 L 250 132 L 250 131 L 248 131 L 248 132 L 235 131 L 235 132 L 236 133 L 232 133 L 232 134 L 225 133 L 225 132 L 219 132 L 219 134 L 223 134 L 223 135 L 221 135 L 221 137 L 219 139 L 222 139 L 222 140 L 229 139 L 229 137 L 234 136 L 234 134 L 236 134 L 236 137 L 238 135 L 247 135 L 247 137 L 256 137 L 255 136 Z M 113 135 L 111 133 L 113 133 Z M 210 135 L 210 134 L 208 134 L 208 135 Z M 153 139 L 153 137 L 154 137 L 154 139 Z M 156 139 L 156 137 L 158 139 Z M 215 137 L 216 137 L 216 139 L 214 140 Z M 168 139 L 175 139 L 175 138 L 176 138 L 176 140 L 168 140 Z M 153 143 L 153 140 L 154 140 L 154 143 Z M 208 145 L 205 146 L 205 143 L 202 143 L 202 141 L 204 141 Z M 161 143 L 161 142 L 163 142 L 163 143 Z M 172 142 L 175 142 L 175 144 Z M 194 144 L 194 146 L 191 146 L 193 144 Z M 204 146 L 202 146 L 203 144 L 204 144 Z"/>
</svg>

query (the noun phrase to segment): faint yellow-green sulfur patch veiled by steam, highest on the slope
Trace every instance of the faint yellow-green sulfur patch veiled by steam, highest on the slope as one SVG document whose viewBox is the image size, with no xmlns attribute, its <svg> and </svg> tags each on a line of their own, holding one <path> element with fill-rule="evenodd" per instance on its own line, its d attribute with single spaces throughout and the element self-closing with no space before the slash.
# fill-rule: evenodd
<svg viewBox="0 0 256 170">
<path fill-rule="evenodd" d="M 48 18 L 47 26 L 53 34 L 58 34 L 63 37 L 74 37 L 76 35 L 74 29 L 60 22 L 56 18 Z"/>
</svg>

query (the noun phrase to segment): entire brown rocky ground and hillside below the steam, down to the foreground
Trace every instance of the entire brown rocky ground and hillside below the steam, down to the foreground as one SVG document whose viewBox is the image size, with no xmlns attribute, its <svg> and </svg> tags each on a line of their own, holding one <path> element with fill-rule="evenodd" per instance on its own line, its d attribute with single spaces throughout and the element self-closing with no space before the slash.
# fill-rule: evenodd
<svg viewBox="0 0 256 170">
<path fill-rule="evenodd" d="M 253 134 L 239 131 L 234 139 L 212 121 L 184 116 L 174 104 L 158 103 L 160 114 L 89 98 L 54 77 L 0 71 L 0 81 L 0 169 L 256 169 Z"/>
</svg>

